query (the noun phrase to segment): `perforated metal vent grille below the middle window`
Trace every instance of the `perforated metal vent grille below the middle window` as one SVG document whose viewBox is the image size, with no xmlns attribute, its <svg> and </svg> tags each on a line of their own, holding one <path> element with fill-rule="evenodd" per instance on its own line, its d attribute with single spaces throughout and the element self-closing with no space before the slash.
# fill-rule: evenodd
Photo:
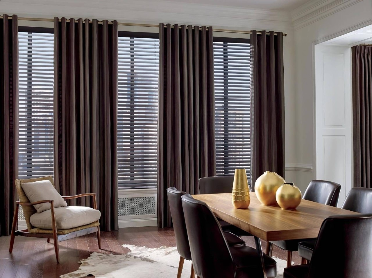
<svg viewBox="0 0 372 278">
<path fill-rule="evenodd" d="M 155 197 L 119 198 L 119 216 L 155 214 Z"/>
</svg>

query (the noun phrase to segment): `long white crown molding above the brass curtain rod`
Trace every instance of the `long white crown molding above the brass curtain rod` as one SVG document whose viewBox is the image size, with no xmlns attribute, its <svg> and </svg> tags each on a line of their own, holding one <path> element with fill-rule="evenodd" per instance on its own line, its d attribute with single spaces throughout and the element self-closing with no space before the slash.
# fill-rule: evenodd
<svg viewBox="0 0 372 278">
<path fill-rule="evenodd" d="M 180 23 L 241 30 L 292 31 L 289 12 L 164 0 L 2 0 L 2 13 L 20 17 L 87 17 L 132 23 Z"/>
</svg>

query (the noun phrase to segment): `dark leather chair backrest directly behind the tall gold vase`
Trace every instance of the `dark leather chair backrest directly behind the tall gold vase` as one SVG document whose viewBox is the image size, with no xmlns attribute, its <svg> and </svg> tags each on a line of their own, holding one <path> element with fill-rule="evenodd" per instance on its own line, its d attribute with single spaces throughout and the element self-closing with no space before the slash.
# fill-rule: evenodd
<svg viewBox="0 0 372 278">
<path fill-rule="evenodd" d="M 199 178 L 200 194 L 232 193 L 234 176 Z"/>
</svg>

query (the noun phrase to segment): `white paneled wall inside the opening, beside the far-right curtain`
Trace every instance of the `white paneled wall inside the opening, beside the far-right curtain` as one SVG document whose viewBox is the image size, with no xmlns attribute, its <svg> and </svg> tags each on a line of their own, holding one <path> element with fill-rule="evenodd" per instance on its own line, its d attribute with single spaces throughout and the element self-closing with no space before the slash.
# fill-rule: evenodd
<svg viewBox="0 0 372 278">
<path fill-rule="evenodd" d="M 316 178 L 352 187 L 352 94 L 349 47 L 315 46 Z"/>
</svg>

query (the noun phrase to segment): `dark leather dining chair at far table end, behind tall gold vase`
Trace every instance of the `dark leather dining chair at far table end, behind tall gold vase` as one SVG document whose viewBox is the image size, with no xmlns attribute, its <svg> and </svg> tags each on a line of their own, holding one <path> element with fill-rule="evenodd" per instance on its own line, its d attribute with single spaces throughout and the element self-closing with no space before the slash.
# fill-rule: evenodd
<svg viewBox="0 0 372 278">
<path fill-rule="evenodd" d="M 232 193 L 233 182 L 234 176 L 199 178 L 199 191 L 200 194 Z M 218 222 L 221 225 L 222 230 L 226 232 L 231 232 L 237 236 L 251 236 L 250 233 L 239 229 L 222 219 L 218 219 Z"/>
</svg>

